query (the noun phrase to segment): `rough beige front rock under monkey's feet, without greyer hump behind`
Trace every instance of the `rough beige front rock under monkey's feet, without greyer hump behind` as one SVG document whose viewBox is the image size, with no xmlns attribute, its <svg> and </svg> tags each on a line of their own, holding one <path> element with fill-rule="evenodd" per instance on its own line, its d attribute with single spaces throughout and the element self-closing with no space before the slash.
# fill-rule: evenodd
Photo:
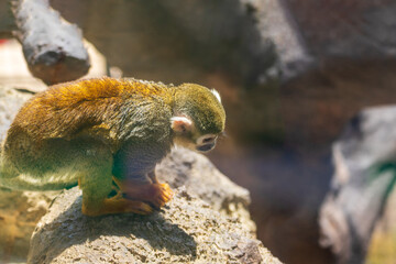
<svg viewBox="0 0 396 264">
<path fill-rule="evenodd" d="M 279 263 L 237 218 L 176 193 L 150 216 L 88 218 L 80 190 L 66 190 L 37 224 L 29 263 Z"/>
</svg>

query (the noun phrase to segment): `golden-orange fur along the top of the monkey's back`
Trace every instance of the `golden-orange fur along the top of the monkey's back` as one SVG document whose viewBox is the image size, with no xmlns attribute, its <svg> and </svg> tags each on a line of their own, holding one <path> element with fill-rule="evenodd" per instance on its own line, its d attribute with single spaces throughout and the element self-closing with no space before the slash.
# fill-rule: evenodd
<svg viewBox="0 0 396 264">
<path fill-rule="evenodd" d="M 102 78 L 53 86 L 21 108 L 9 135 L 15 130 L 23 130 L 40 141 L 73 136 L 102 122 L 114 127 L 121 118 L 125 100 L 147 101 L 155 96 L 172 100 L 167 86 L 134 79 Z"/>
</svg>

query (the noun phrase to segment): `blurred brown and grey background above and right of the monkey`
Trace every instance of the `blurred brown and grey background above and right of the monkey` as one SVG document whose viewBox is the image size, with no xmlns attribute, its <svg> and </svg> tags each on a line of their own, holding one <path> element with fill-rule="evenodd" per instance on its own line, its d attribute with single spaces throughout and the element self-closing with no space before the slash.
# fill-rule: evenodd
<svg viewBox="0 0 396 264">
<path fill-rule="evenodd" d="M 216 88 L 228 136 L 209 156 L 251 191 L 264 245 L 292 264 L 391 264 L 395 13 L 393 0 L 0 0 L 0 88 L 103 75 Z"/>
</svg>

